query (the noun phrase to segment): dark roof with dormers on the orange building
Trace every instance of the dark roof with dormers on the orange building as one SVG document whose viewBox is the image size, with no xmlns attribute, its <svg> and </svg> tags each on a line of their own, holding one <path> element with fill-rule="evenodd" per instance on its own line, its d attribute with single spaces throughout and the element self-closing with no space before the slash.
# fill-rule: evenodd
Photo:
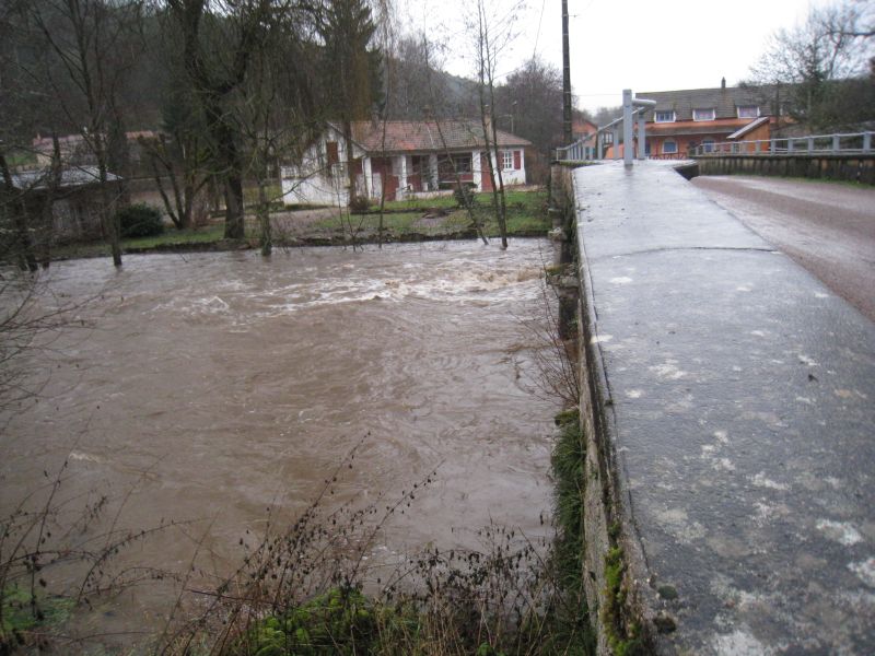
<svg viewBox="0 0 875 656">
<path fill-rule="evenodd" d="M 693 109 L 715 109 L 715 118 L 736 118 L 737 107 L 756 105 L 762 115 L 769 114 L 763 103 L 762 90 L 749 86 L 725 86 L 716 89 L 686 89 L 681 91 L 653 91 L 635 93 L 637 97 L 656 101 L 656 107 L 645 114 L 653 120 L 655 112 L 675 112 L 676 120 L 692 120 Z"/>
</svg>

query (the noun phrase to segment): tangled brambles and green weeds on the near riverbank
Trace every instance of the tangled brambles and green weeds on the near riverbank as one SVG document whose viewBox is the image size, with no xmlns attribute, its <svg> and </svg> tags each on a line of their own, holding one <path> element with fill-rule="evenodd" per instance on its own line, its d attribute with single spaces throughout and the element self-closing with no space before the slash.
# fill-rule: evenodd
<svg viewBox="0 0 875 656">
<path fill-rule="evenodd" d="M 567 460 L 573 448 L 565 450 L 572 425 L 563 426 L 555 456 L 555 471 L 567 482 L 574 470 Z M 268 519 L 261 536 L 247 531 L 238 569 L 221 581 L 194 567 L 163 572 L 118 565 L 115 561 L 127 547 L 170 526 L 137 534 L 92 530 L 88 525 L 96 528 L 108 511 L 105 499 L 83 514 L 78 529 L 84 537 L 79 530 L 52 537 L 56 504 L 69 500 L 49 494 L 42 511 L 19 513 L 3 524 L 0 653 L 103 649 L 108 646 L 105 636 L 67 631 L 63 622 L 74 612 L 81 617 L 100 609 L 101 598 L 145 582 L 176 590 L 163 630 L 149 642 L 156 654 L 592 653 L 573 520 L 559 527 L 552 557 L 547 542 L 489 526 L 478 532 L 480 550 L 431 548 L 388 570 L 372 566 L 368 554 L 375 538 L 394 514 L 410 508 L 434 472 L 394 503 L 348 503 L 329 511 L 325 502 L 353 457 L 338 466 L 293 524 L 279 527 Z M 60 480 L 52 485 L 55 492 Z M 573 490 L 574 484 L 562 488 Z M 568 502 L 570 496 L 557 497 L 560 518 L 570 517 L 562 509 Z M 70 565 L 84 573 L 78 594 L 49 593 L 56 571 Z"/>
</svg>

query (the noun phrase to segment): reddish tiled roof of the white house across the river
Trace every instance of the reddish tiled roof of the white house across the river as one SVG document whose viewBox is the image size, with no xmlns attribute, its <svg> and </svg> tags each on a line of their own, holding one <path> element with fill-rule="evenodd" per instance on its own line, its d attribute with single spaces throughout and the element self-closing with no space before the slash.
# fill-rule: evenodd
<svg viewBox="0 0 875 656">
<path fill-rule="evenodd" d="M 385 127 L 385 141 L 384 141 Z M 532 145 L 522 137 L 497 130 L 499 148 Z M 485 148 L 479 120 L 355 121 L 352 138 L 371 153 L 442 152 Z"/>
</svg>

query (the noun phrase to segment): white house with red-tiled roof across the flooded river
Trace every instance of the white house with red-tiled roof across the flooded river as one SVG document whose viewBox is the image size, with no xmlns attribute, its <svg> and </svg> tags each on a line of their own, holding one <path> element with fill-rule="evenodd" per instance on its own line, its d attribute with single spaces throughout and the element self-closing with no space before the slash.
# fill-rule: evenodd
<svg viewBox="0 0 875 656">
<path fill-rule="evenodd" d="M 505 186 L 526 181 L 525 139 L 497 131 L 491 156 Z M 355 121 L 352 166 L 355 196 L 386 200 L 451 194 L 456 180 L 491 191 L 483 128 L 476 120 Z M 348 204 L 349 175 L 343 132 L 327 124 L 300 165 L 282 167 L 287 204 Z"/>
</svg>

